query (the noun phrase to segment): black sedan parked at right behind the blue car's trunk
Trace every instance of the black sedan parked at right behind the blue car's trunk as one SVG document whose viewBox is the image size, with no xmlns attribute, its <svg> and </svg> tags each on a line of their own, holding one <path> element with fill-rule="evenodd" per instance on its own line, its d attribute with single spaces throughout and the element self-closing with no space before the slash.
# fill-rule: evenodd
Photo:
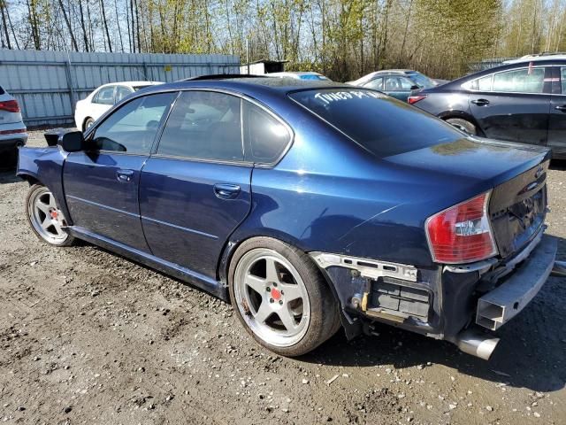
<svg viewBox="0 0 566 425">
<path fill-rule="evenodd" d="M 566 58 L 512 61 L 424 89 L 409 104 L 471 135 L 547 146 L 566 158 Z"/>
</svg>

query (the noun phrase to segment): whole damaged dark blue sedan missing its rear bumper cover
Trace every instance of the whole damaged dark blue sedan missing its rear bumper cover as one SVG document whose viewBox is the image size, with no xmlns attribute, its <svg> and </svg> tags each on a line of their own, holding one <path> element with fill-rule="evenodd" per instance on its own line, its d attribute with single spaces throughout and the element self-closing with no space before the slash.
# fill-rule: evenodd
<svg viewBox="0 0 566 425">
<path fill-rule="evenodd" d="M 34 233 L 103 246 L 231 301 L 281 355 L 375 321 L 489 358 L 555 265 L 549 151 L 464 135 L 370 89 L 153 86 L 23 148 Z M 552 314 L 552 312 L 550 312 Z"/>
</svg>

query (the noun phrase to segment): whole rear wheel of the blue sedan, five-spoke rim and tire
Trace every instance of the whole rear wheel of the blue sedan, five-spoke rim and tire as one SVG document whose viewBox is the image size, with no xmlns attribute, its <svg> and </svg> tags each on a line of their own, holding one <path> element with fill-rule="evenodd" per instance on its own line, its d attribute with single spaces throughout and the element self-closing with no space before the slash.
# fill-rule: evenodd
<svg viewBox="0 0 566 425">
<path fill-rule="evenodd" d="M 310 352 L 340 327 L 338 305 L 317 266 L 276 239 L 241 244 L 231 262 L 229 290 L 249 334 L 280 355 Z"/>
</svg>

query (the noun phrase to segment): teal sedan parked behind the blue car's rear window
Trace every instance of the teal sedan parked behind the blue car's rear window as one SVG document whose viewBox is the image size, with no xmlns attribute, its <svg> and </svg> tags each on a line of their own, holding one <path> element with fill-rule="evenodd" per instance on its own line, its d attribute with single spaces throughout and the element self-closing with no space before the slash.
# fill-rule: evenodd
<svg viewBox="0 0 566 425">
<path fill-rule="evenodd" d="M 368 73 L 356 81 L 348 81 L 347 84 L 379 90 L 386 93 L 386 95 L 407 102 L 409 96 L 417 94 L 422 89 L 436 87 L 440 82 L 436 82 L 418 71 L 388 69 Z"/>
</svg>

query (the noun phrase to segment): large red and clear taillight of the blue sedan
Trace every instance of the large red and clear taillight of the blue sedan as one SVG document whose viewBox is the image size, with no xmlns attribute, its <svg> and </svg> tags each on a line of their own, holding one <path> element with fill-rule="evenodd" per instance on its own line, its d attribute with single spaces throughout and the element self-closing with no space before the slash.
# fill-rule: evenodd
<svg viewBox="0 0 566 425">
<path fill-rule="evenodd" d="M 426 220 L 426 235 L 434 261 L 470 263 L 497 254 L 487 214 L 490 193 L 473 197 Z"/>
</svg>

